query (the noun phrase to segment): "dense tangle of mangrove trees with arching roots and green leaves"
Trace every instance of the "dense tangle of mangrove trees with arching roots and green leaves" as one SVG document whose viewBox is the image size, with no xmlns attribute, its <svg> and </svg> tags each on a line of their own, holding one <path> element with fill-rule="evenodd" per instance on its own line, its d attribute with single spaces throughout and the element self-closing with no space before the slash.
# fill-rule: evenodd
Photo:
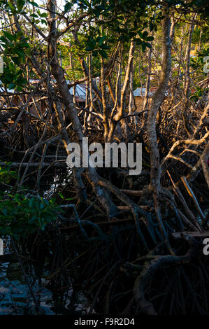
<svg viewBox="0 0 209 329">
<path fill-rule="evenodd" d="M 209 314 L 207 1 L 0 10 L 0 235 L 50 260 L 49 285 L 80 284 L 89 313 Z M 67 168 L 83 137 L 141 143 L 141 174 Z"/>
</svg>

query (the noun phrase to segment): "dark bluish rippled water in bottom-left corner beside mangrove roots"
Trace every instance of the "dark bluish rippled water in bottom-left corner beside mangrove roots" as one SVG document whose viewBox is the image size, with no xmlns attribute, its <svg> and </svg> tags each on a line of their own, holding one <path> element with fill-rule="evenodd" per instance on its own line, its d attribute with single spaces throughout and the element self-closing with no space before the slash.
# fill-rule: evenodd
<svg viewBox="0 0 209 329">
<path fill-rule="evenodd" d="M 5 253 L 8 253 L 8 246 Z M 48 264 L 24 262 L 24 270 L 29 276 L 36 300 L 45 314 L 87 313 L 89 302 L 82 291 L 75 290 L 72 286 L 50 289 L 47 287 L 50 276 Z M 15 260 L 2 262 L 0 258 L 0 315 L 10 314 L 27 315 L 37 312 L 20 264 Z"/>
</svg>

